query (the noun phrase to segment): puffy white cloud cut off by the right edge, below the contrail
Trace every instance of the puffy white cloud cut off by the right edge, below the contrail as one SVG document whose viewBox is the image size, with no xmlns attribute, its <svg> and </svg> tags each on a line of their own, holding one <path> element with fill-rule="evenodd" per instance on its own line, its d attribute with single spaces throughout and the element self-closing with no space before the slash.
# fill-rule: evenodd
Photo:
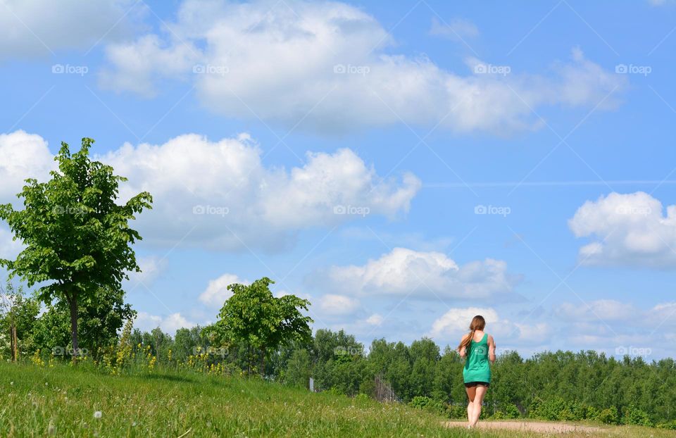
<svg viewBox="0 0 676 438">
<path fill-rule="evenodd" d="M 663 208 L 644 192 L 587 201 L 568 225 L 591 241 L 580 248 L 582 263 L 676 268 L 676 205 Z"/>
</svg>

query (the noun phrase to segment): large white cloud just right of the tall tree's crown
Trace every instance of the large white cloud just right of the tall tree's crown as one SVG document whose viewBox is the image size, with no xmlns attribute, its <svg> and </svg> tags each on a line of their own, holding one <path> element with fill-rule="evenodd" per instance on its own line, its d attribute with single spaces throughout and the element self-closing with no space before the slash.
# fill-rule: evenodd
<svg viewBox="0 0 676 438">
<path fill-rule="evenodd" d="M 129 178 L 123 196 L 142 190 L 154 196 L 154 209 L 137 220 L 144 237 L 212 249 L 275 251 L 302 228 L 363 213 L 394 217 L 408 211 L 420 188 L 411 174 L 401 182 L 382 180 L 350 149 L 308 152 L 306 164 L 289 171 L 266 168 L 247 134 L 218 142 L 186 134 L 161 145 L 125 144 L 102 161 Z"/>
</svg>

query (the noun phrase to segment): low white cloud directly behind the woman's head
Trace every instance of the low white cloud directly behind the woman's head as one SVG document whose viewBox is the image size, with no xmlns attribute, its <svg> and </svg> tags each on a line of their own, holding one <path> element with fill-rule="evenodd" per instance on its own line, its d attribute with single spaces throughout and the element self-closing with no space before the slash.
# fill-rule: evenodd
<svg viewBox="0 0 676 438">
<path fill-rule="evenodd" d="M 441 317 L 434 320 L 430 337 L 446 341 L 459 342 L 468 332 L 470 321 L 475 315 L 486 320 L 486 331 L 494 336 L 499 345 L 544 345 L 551 336 L 552 329 L 546 323 L 528 325 L 499 317 L 494 308 L 450 308 Z"/>
</svg>

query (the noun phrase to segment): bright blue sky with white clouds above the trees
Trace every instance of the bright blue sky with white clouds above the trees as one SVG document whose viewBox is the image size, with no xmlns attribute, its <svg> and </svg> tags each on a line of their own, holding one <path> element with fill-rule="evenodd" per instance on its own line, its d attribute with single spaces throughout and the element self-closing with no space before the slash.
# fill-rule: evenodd
<svg viewBox="0 0 676 438">
<path fill-rule="evenodd" d="M 137 326 L 265 275 L 367 344 L 482 313 L 525 355 L 674 356 L 674 2 L 36 5 L 0 8 L 0 201 L 96 139 L 155 196 Z"/>
</svg>

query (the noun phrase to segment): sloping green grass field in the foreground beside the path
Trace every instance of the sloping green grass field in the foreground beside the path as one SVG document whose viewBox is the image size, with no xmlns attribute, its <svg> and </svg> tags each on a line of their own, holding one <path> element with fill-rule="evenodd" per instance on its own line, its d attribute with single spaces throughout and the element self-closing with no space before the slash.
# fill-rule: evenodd
<svg viewBox="0 0 676 438">
<path fill-rule="evenodd" d="M 111 376 L 68 365 L 0 363 L 0 399 L 2 437 L 540 436 L 449 429 L 444 418 L 400 404 L 192 373 Z M 599 436 L 607 434 L 676 436 L 626 427 Z"/>
</svg>

